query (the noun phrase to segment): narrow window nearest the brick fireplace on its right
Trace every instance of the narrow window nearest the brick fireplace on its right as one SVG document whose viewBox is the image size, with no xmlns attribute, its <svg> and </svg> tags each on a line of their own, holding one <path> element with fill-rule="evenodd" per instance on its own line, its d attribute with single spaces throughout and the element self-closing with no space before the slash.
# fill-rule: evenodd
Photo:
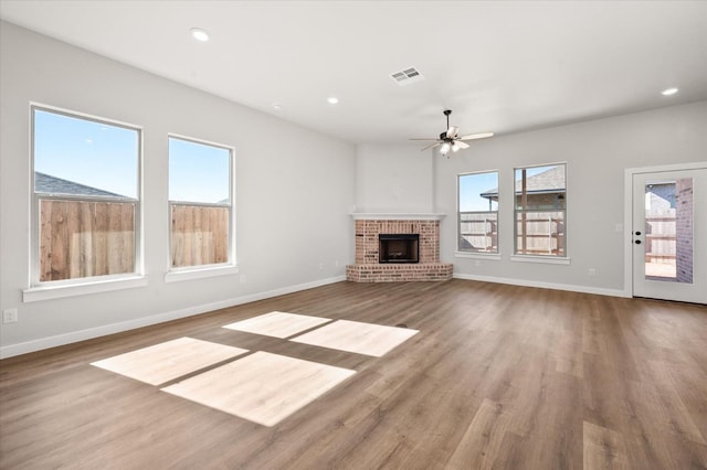
<svg viewBox="0 0 707 470">
<path fill-rule="evenodd" d="M 498 253 L 498 172 L 460 174 L 458 243 L 464 253 Z"/>
</svg>

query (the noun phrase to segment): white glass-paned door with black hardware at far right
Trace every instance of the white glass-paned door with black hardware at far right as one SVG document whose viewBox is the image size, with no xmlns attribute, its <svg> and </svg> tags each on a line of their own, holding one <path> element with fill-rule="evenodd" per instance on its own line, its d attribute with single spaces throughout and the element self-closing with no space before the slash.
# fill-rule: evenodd
<svg viewBox="0 0 707 470">
<path fill-rule="evenodd" d="M 707 303 L 707 163 L 633 173 L 633 295 Z"/>
</svg>

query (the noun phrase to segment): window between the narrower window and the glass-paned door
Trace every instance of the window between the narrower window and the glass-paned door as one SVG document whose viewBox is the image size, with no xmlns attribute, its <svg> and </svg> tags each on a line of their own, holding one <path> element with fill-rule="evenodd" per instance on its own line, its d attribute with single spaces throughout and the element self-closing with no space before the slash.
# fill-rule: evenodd
<svg viewBox="0 0 707 470">
<path fill-rule="evenodd" d="M 564 163 L 515 170 L 516 255 L 567 256 Z"/>
</svg>

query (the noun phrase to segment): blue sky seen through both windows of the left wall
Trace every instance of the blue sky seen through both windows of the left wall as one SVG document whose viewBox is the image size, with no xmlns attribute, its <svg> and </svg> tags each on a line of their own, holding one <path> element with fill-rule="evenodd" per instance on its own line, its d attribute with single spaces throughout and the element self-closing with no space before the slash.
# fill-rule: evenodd
<svg viewBox="0 0 707 470">
<path fill-rule="evenodd" d="M 169 138 L 169 199 L 228 200 L 230 151 Z M 34 171 L 137 197 L 139 137 L 134 129 L 35 109 Z"/>
</svg>

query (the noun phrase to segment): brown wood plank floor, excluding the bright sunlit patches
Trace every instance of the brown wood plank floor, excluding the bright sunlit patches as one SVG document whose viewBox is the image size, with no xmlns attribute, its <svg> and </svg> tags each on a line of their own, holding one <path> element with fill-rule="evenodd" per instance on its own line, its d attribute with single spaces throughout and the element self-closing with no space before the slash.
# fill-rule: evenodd
<svg viewBox="0 0 707 470">
<path fill-rule="evenodd" d="M 374 357 L 222 328 L 272 311 L 420 333 Z M 91 365 L 183 337 L 356 375 L 266 427 Z M 705 469 L 707 307 L 329 285 L 1 361 L 0 468 Z"/>
</svg>

